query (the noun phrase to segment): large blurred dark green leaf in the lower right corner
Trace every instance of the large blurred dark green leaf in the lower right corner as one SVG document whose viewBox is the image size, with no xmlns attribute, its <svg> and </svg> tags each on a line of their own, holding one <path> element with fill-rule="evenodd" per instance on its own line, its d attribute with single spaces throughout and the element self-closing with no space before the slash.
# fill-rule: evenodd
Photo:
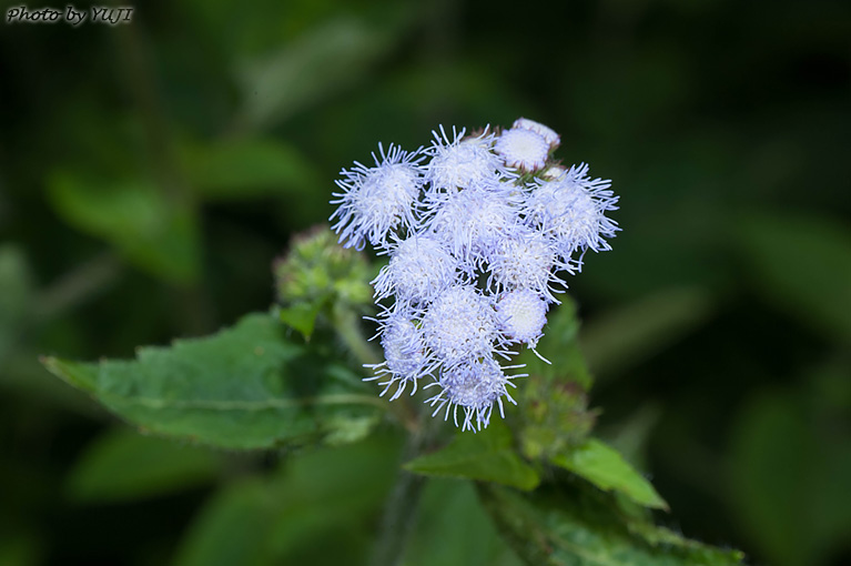
<svg viewBox="0 0 851 566">
<path fill-rule="evenodd" d="M 732 506 L 779 566 L 822 564 L 851 535 L 848 426 L 815 429 L 800 400 L 763 395 L 732 428 Z"/>
</svg>

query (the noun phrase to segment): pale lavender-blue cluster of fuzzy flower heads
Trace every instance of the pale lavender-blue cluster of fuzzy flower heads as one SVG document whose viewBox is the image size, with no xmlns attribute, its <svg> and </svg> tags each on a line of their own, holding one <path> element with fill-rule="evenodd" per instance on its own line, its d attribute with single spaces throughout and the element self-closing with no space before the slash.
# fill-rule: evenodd
<svg viewBox="0 0 851 566">
<path fill-rule="evenodd" d="M 609 250 L 618 230 L 605 215 L 617 208 L 610 182 L 554 161 L 559 142 L 523 118 L 474 135 L 442 127 L 428 148 L 379 144 L 374 166 L 341 172 L 331 216 L 340 242 L 389 255 L 373 281 L 385 361 L 369 378 L 384 380 L 382 395 L 427 381 L 434 415 L 474 431 L 495 404 L 505 416 L 504 400 L 515 403 L 508 388 L 525 374 L 507 372 L 523 366 L 500 360 L 524 344 L 538 354 L 564 276 L 581 271 L 588 250 Z"/>
</svg>

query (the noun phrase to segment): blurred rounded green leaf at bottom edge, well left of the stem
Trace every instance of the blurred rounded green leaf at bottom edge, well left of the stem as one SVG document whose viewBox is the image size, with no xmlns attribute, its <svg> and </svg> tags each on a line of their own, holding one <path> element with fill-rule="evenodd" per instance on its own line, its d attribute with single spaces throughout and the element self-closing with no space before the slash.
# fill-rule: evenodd
<svg viewBox="0 0 851 566">
<path fill-rule="evenodd" d="M 280 503 L 269 483 L 242 481 L 215 494 L 183 540 L 175 566 L 273 564 L 269 535 Z"/>
</svg>

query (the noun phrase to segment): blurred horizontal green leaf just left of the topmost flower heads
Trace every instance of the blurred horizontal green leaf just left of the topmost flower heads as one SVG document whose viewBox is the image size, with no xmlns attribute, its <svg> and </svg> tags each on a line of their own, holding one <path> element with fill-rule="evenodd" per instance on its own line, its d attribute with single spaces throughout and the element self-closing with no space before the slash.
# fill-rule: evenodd
<svg viewBox="0 0 851 566">
<path fill-rule="evenodd" d="M 263 138 L 186 144 L 181 154 L 190 184 L 205 199 L 297 195 L 320 184 L 296 148 Z"/>
</svg>

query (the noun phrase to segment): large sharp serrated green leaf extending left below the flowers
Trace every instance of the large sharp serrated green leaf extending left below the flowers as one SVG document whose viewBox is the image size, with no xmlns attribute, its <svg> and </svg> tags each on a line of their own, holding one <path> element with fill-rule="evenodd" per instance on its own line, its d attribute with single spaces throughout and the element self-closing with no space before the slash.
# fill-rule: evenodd
<svg viewBox="0 0 851 566">
<path fill-rule="evenodd" d="M 357 375 L 283 333 L 272 316 L 252 314 L 210 337 L 140 348 L 131 362 L 43 363 L 122 418 L 164 436 L 250 449 L 317 436 L 351 442 L 368 432 L 384 403 Z"/>
</svg>

